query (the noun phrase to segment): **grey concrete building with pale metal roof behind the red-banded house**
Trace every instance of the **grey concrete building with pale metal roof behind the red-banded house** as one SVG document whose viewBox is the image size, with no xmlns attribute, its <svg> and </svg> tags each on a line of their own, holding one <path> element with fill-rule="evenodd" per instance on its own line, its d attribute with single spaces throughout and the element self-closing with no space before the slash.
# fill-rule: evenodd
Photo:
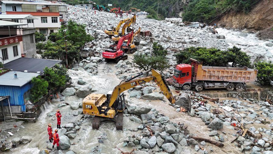
<svg viewBox="0 0 273 154">
<path fill-rule="evenodd" d="M 24 23 L 27 20 L 38 19 L 30 14 L 0 14 L 0 20 Z M 28 28 L 26 28 L 28 26 Z M 34 25 L 32 25 L 34 26 Z M 36 57 L 35 28 L 29 25 L 19 25 L 17 35 L 22 34 L 23 43 L 20 44 L 21 53 L 25 57 Z"/>
</svg>

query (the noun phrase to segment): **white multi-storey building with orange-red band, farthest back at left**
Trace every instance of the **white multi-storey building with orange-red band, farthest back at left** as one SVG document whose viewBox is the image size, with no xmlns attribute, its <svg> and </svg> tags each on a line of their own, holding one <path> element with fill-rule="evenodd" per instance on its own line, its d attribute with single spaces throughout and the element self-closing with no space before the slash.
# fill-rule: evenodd
<svg viewBox="0 0 273 154">
<path fill-rule="evenodd" d="M 59 3 L 0 1 L 2 14 L 30 14 L 37 19 L 23 20 L 23 28 L 34 27 L 43 34 L 57 32 L 66 20 L 66 6 Z"/>
</svg>

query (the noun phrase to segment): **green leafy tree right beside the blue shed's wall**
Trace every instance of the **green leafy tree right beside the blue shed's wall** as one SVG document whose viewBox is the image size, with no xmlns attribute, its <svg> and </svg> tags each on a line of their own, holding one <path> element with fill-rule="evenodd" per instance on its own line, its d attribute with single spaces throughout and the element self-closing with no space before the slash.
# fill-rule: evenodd
<svg viewBox="0 0 273 154">
<path fill-rule="evenodd" d="M 31 79 L 33 87 L 30 89 L 30 98 L 35 103 L 39 101 L 48 92 L 48 82 L 41 79 L 41 76 L 33 77 Z"/>
</svg>

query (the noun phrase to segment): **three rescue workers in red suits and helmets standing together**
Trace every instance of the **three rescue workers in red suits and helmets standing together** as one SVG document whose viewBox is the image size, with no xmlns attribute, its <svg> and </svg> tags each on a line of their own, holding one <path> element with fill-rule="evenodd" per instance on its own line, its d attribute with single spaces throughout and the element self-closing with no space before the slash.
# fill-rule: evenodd
<svg viewBox="0 0 273 154">
<path fill-rule="evenodd" d="M 61 128 L 61 112 L 60 110 L 57 110 L 56 113 L 56 117 L 57 117 L 57 128 Z M 51 127 L 51 123 L 48 124 L 48 135 L 49 135 L 49 142 L 52 143 L 53 141 L 53 145 L 52 148 L 54 148 L 54 145 L 57 144 L 57 150 L 59 150 L 59 134 L 58 134 L 58 130 L 55 129 L 55 133 L 52 134 L 52 127 Z"/>
</svg>

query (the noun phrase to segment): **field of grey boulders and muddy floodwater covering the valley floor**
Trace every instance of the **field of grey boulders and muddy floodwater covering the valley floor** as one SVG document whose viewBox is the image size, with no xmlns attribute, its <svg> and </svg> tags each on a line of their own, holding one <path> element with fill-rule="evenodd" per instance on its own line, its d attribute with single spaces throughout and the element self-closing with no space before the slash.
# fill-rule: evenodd
<svg viewBox="0 0 273 154">
<path fill-rule="evenodd" d="M 69 69 L 72 84 L 59 93 L 60 98 L 44 106 L 36 123 L 8 121 L 9 125 L 1 132 L 1 148 L 15 148 L 6 153 L 118 154 L 120 150 L 131 152 L 134 149 L 134 154 L 273 154 L 273 106 L 269 102 L 252 98 L 212 101 L 194 91 L 179 92 L 169 86 L 177 96 L 176 104 L 170 104 L 153 82 L 125 92 L 123 131 L 117 131 L 112 122 L 103 122 L 99 130 L 92 130 L 94 116 L 82 114 L 83 98 L 90 93 L 106 94 L 140 70 L 134 67 L 132 54 L 117 64 L 105 63 L 102 58 L 101 53 L 113 43 L 103 31 L 116 26 L 120 20 L 114 13 L 97 11 L 94 14 L 90 9 L 68 6 L 67 18 L 85 24 L 90 35 L 98 36 L 86 44 L 92 46 L 94 55 Z M 186 47 L 222 50 L 230 47 L 224 35 L 214 35 L 208 27 L 186 27 L 178 18 L 157 21 L 139 16 L 135 25 L 136 29 L 138 27 L 141 31 L 150 30 L 152 36 L 140 36 L 137 52 L 151 55 L 152 43 L 158 42 L 167 49 L 171 66 L 176 65 L 173 54 Z M 161 75 L 171 78 L 173 69 L 170 67 Z M 191 102 L 190 112 L 182 112 L 183 101 Z M 48 123 L 53 123 L 54 130 L 57 109 L 63 116 L 62 129 L 58 131 L 59 151 L 56 147 L 52 149 L 46 131 Z M 12 128 L 14 124 L 17 126 Z"/>
</svg>

